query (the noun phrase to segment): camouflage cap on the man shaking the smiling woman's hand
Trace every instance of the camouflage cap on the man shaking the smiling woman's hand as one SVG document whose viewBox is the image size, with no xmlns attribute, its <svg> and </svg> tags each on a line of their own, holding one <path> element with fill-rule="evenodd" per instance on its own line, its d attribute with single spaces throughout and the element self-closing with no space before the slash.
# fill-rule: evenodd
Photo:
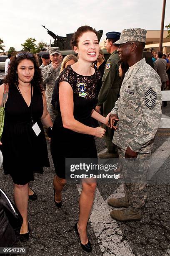
<svg viewBox="0 0 170 256">
<path fill-rule="evenodd" d="M 125 44 L 129 41 L 146 42 L 146 30 L 143 28 L 126 28 L 122 30 L 120 39 L 114 44 Z"/>
</svg>

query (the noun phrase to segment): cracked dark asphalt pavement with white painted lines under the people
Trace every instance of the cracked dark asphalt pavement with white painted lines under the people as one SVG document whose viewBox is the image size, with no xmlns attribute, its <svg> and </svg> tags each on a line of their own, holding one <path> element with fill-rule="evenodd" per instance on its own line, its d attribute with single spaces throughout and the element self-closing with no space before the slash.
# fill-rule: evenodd
<svg viewBox="0 0 170 256">
<path fill-rule="evenodd" d="M 170 102 L 163 108 L 169 115 Z M 97 184 L 95 202 L 87 233 L 92 243 L 92 256 L 168 256 L 170 255 L 170 129 L 159 129 L 155 138 L 152 163 L 153 177 L 148 183 L 148 199 L 142 209 L 143 217 L 138 222 L 114 221 L 110 218 L 112 207 L 107 205 L 110 197 L 124 195 L 121 183 Z M 78 220 L 80 186 L 67 183 L 62 193 L 62 208 L 53 202 L 54 168 L 49 150 L 50 168 L 35 174 L 30 187 L 37 193 L 37 200 L 30 201 L 28 218 L 30 240 L 17 243 L 26 247 L 28 256 L 81 256 L 82 251 L 74 231 Z M 105 149 L 102 139 L 96 139 L 97 151 Z M 25 163 L 27 164 L 27 163 Z M 155 164 L 155 165 L 154 165 Z M 165 175 L 167 179 L 161 179 Z M 0 169 L 0 187 L 13 200 L 13 182 Z M 15 254 L 16 255 L 16 254 Z"/>
</svg>

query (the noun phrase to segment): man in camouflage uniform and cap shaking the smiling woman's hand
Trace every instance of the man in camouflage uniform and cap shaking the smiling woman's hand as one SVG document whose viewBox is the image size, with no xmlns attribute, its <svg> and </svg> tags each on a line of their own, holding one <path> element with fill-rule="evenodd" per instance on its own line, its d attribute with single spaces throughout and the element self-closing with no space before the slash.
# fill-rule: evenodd
<svg viewBox="0 0 170 256">
<path fill-rule="evenodd" d="M 115 220 L 140 220 L 140 208 L 147 197 L 147 172 L 153 141 L 161 119 L 161 81 L 155 70 L 143 59 L 146 30 L 122 31 L 118 44 L 120 61 L 130 68 L 125 74 L 120 98 L 111 111 L 110 125 L 116 130 L 113 143 L 118 147 L 123 167 L 125 197 L 108 200 Z M 117 126 L 113 126 L 119 120 Z M 134 161 L 135 160 L 135 161 Z"/>
</svg>

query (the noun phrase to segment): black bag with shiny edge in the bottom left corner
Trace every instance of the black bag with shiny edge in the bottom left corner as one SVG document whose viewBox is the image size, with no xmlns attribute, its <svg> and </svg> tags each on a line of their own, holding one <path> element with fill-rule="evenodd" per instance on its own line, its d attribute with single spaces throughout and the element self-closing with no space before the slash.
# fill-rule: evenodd
<svg viewBox="0 0 170 256">
<path fill-rule="evenodd" d="M 10 247 L 19 241 L 23 218 L 17 207 L 0 189 L 0 247 Z"/>
</svg>

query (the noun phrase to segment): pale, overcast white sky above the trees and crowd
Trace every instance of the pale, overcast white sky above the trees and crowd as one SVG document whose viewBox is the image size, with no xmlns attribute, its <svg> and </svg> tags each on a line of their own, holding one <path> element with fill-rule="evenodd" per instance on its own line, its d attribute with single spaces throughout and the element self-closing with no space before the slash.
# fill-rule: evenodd
<svg viewBox="0 0 170 256">
<path fill-rule="evenodd" d="M 168 25 L 170 0 L 166 2 Z M 41 25 L 59 36 L 89 25 L 103 30 L 101 40 L 105 33 L 125 28 L 160 30 L 162 8 L 163 0 L 6 0 L 0 3 L 0 38 L 5 51 L 12 46 L 19 51 L 30 37 L 37 40 L 36 44 L 53 41 Z"/>
</svg>

